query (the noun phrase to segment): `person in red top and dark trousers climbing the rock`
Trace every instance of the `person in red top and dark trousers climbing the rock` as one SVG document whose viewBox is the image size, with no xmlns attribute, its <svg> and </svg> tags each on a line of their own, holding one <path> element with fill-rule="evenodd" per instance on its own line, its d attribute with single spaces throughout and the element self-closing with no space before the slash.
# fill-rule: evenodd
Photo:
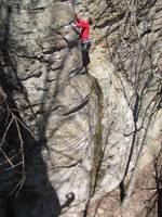
<svg viewBox="0 0 162 217">
<path fill-rule="evenodd" d="M 85 67 L 85 69 L 87 71 L 87 65 L 90 64 L 89 51 L 91 47 L 90 18 L 87 16 L 85 18 L 79 18 L 76 15 L 76 23 L 72 26 L 80 29 L 83 67 Z"/>
</svg>

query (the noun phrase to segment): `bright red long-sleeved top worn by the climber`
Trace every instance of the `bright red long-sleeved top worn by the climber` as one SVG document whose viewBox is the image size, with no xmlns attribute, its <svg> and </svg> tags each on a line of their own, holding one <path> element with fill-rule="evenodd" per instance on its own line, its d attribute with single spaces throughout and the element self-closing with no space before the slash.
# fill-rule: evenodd
<svg viewBox="0 0 162 217">
<path fill-rule="evenodd" d="M 90 25 L 87 21 L 83 21 L 81 18 L 77 18 L 77 26 L 81 28 L 81 40 L 90 40 Z"/>
</svg>

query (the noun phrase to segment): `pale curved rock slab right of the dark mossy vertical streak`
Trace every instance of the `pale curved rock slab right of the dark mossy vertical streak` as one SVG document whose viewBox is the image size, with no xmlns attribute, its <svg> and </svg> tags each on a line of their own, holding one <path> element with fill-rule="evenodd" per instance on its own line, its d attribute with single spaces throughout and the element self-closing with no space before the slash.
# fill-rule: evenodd
<svg viewBox="0 0 162 217">
<path fill-rule="evenodd" d="M 124 135 L 134 129 L 132 111 L 122 91 L 120 75 L 116 74 L 113 65 L 106 61 L 102 49 L 96 48 L 91 55 L 92 74 L 103 92 L 103 163 L 100 166 L 100 183 L 98 194 L 114 189 L 123 178 L 123 171 L 131 149 L 130 139 Z M 123 82 L 126 82 L 123 79 Z M 126 86 L 126 92 L 133 93 Z M 120 123 L 120 125 L 118 124 Z M 123 157 L 124 156 L 124 157 Z"/>
</svg>

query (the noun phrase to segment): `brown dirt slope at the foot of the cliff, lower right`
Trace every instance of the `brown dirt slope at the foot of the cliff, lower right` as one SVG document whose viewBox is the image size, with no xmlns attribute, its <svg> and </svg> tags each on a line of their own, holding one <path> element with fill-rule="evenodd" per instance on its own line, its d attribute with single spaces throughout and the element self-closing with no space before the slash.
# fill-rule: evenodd
<svg viewBox="0 0 162 217">
<path fill-rule="evenodd" d="M 122 208 L 120 188 L 90 205 L 87 217 L 162 217 L 162 153 L 138 174 L 135 190 Z"/>
</svg>

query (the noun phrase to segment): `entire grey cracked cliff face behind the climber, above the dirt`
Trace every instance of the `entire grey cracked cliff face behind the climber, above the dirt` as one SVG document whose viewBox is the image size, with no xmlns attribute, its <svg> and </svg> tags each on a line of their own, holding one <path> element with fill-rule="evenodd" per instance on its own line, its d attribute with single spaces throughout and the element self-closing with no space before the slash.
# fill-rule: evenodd
<svg viewBox="0 0 162 217">
<path fill-rule="evenodd" d="M 119 186 L 127 204 L 161 148 L 161 0 L 0 3 L 1 216 L 95 216 Z M 75 11 L 93 18 L 87 73 Z"/>
</svg>

